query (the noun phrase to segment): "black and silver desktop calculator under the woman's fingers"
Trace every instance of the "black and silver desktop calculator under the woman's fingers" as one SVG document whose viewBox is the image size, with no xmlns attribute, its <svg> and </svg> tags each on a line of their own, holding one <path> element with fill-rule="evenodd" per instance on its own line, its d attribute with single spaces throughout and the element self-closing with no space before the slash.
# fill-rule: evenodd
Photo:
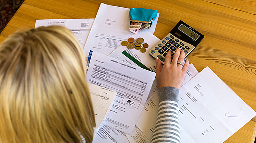
<svg viewBox="0 0 256 143">
<path fill-rule="evenodd" d="M 159 58 L 164 64 L 167 51 L 171 50 L 171 61 L 176 49 L 183 49 L 185 58 L 202 41 L 204 35 L 193 29 L 183 21 L 179 21 L 175 27 L 168 33 L 156 46 L 149 50 L 149 54 L 154 58 Z"/>
</svg>

